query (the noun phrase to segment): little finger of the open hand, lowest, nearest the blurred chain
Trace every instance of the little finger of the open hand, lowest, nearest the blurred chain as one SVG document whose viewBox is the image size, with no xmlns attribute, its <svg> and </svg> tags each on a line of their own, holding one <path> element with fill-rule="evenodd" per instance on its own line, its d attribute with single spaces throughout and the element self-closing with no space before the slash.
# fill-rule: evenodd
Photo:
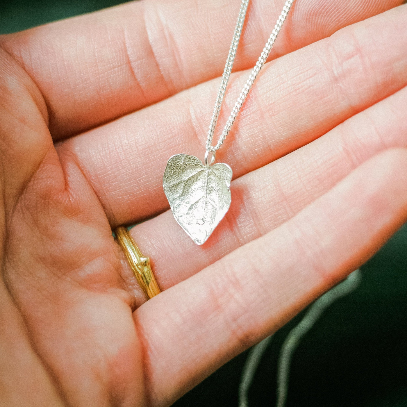
<svg viewBox="0 0 407 407">
<path fill-rule="evenodd" d="M 134 319 L 152 405 L 171 404 L 274 332 L 406 220 L 407 150 L 386 151 L 276 230 L 143 304 Z"/>
</svg>

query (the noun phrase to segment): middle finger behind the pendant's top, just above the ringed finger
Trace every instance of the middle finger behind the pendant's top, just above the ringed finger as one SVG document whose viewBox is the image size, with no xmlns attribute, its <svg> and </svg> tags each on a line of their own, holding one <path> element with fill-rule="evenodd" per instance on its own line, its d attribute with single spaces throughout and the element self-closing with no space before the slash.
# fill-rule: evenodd
<svg viewBox="0 0 407 407">
<path fill-rule="evenodd" d="M 239 177 L 405 86 L 407 38 L 399 33 L 406 18 L 407 7 L 400 6 L 269 63 L 217 160 Z M 247 72 L 232 79 L 219 123 Z M 203 155 L 217 86 L 201 84 L 59 146 L 60 156 L 69 156 L 89 179 L 112 227 L 168 208 L 162 190 L 166 162 L 176 153 Z"/>
</svg>

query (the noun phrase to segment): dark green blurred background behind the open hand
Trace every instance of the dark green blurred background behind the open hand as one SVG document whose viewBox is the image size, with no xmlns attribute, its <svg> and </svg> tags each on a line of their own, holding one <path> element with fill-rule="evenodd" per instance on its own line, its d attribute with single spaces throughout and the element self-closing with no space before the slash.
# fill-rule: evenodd
<svg viewBox="0 0 407 407">
<path fill-rule="evenodd" d="M 3 0 L 0 33 L 119 3 Z M 362 267 L 362 274 L 357 291 L 333 304 L 295 352 L 287 407 L 407 406 L 407 225 Z M 275 405 L 278 352 L 301 316 L 272 339 L 249 393 L 250 406 Z M 174 406 L 236 407 L 246 356 L 227 363 Z"/>
</svg>

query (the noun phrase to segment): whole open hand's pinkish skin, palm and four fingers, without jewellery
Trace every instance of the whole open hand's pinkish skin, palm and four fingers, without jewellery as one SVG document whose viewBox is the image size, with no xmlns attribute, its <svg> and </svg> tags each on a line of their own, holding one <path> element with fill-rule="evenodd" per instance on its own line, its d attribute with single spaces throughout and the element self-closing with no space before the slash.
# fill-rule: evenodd
<svg viewBox="0 0 407 407">
<path fill-rule="evenodd" d="M 407 220 L 407 6 L 297 0 L 217 154 L 228 214 L 202 246 L 179 228 L 162 173 L 203 157 L 238 3 L 0 37 L 1 406 L 168 406 Z M 219 131 L 281 8 L 249 6 Z M 145 219 L 148 302 L 111 232 Z"/>
</svg>

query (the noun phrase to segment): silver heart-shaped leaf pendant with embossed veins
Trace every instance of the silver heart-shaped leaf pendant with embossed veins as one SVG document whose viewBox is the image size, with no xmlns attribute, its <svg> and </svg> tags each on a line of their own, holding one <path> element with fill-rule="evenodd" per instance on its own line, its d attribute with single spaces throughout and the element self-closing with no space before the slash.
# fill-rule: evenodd
<svg viewBox="0 0 407 407">
<path fill-rule="evenodd" d="M 193 155 L 173 155 L 164 171 L 163 188 L 175 220 L 197 243 L 203 244 L 230 207 L 232 168 L 210 166 Z"/>
</svg>

